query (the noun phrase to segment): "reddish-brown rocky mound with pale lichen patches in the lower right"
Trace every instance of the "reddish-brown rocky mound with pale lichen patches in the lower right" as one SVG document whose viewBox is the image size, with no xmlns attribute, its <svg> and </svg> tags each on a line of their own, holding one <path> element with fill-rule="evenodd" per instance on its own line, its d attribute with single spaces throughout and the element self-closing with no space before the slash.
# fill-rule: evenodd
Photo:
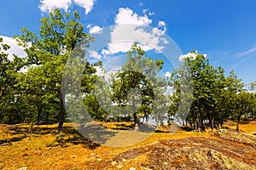
<svg viewBox="0 0 256 170">
<path fill-rule="evenodd" d="M 128 150 L 113 161 L 145 155 L 148 169 L 255 169 L 256 148 L 221 138 L 161 140 L 158 144 Z"/>
</svg>

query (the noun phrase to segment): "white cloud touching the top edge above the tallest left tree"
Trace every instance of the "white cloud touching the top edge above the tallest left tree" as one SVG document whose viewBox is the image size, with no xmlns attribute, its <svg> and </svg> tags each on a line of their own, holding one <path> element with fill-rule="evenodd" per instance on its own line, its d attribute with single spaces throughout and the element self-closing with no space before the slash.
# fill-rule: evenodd
<svg viewBox="0 0 256 170">
<path fill-rule="evenodd" d="M 41 0 L 39 8 L 42 12 L 48 13 L 51 9 L 60 8 L 67 12 L 67 9 L 72 3 L 79 5 L 85 9 L 85 14 L 88 14 L 93 8 L 95 0 Z"/>
</svg>

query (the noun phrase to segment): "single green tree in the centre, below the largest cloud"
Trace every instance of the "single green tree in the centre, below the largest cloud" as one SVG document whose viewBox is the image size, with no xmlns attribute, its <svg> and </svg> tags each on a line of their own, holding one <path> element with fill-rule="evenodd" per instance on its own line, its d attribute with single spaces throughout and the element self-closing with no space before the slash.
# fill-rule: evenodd
<svg viewBox="0 0 256 170">
<path fill-rule="evenodd" d="M 148 116 L 153 111 L 156 99 L 154 89 L 158 87 L 156 74 L 161 70 L 162 59 L 148 58 L 145 52 L 135 42 L 131 51 L 127 53 L 127 59 L 122 66 L 122 71 L 113 79 L 112 99 L 118 105 L 130 105 L 134 124 L 137 124 L 137 114 Z M 123 113 L 124 114 L 124 113 Z"/>
</svg>

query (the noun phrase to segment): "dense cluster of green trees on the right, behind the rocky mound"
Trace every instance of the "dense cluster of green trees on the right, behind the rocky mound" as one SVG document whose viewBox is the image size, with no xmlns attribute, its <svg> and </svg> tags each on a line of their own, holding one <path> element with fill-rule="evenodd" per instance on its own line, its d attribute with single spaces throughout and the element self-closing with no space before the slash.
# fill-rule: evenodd
<svg viewBox="0 0 256 170">
<path fill-rule="evenodd" d="M 184 59 L 183 65 L 172 72 L 171 84 L 174 93 L 169 113 L 175 115 L 178 112 L 177 109 L 182 103 L 181 96 L 183 96 L 180 87 L 181 76 L 190 74 L 193 80 L 193 100 L 188 117 L 179 117 L 183 124 L 186 122 L 190 126 L 201 130 L 204 130 L 206 126 L 218 128 L 230 116 L 237 117 L 237 111 L 244 115 L 247 112 L 247 107 L 242 106 L 243 102 L 241 100 L 237 100 L 237 96 L 241 95 L 238 93 L 244 87 L 241 79 L 236 77 L 234 71 L 230 72 L 229 77 L 224 77 L 223 68 L 214 68 L 202 54 L 197 54 L 195 51 L 191 54 L 195 54 L 195 58 L 191 56 Z M 186 71 L 186 67 L 189 68 L 189 71 Z M 249 98 L 245 99 L 244 102 L 247 105 L 249 103 L 253 104 L 253 100 Z M 181 106 L 181 108 L 188 111 L 187 107 Z"/>
</svg>

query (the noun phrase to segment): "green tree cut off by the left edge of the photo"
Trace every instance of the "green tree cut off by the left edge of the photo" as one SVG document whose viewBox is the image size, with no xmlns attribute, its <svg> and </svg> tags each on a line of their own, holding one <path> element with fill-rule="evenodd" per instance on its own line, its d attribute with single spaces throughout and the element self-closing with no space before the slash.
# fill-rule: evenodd
<svg viewBox="0 0 256 170">
<path fill-rule="evenodd" d="M 14 55 L 13 59 L 6 50 L 10 47 L 0 38 L 0 122 L 20 122 L 20 115 L 15 110 L 20 106 L 20 69 L 24 65 L 24 59 Z"/>
</svg>

